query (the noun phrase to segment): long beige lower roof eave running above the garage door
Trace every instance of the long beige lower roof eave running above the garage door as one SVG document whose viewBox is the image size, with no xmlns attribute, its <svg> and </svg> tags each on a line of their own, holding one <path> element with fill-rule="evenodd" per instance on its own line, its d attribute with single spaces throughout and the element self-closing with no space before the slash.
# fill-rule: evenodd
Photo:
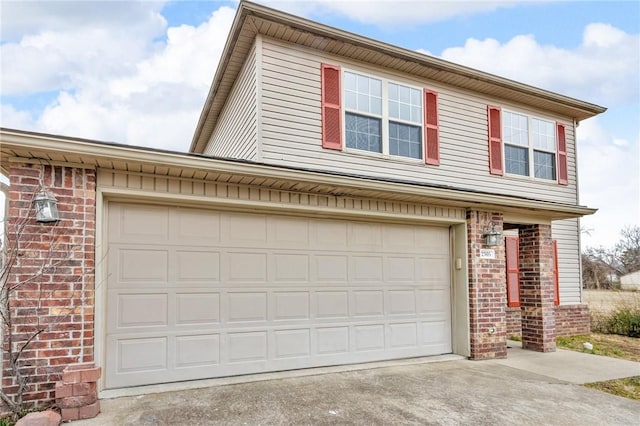
<svg viewBox="0 0 640 426">
<path fill-rule="evenodd" d="M 498 208 L 505 211 L 527 212 L 547 219 L 568 219 L 593 214 L 597 209 L 554 203 L 550 201 L 525 199 L 492 193 L 478 193 L 456 188 L 433 187 L 409 182 L 385 181 L 375 178 L 331 174 L 320 170 L 279 167 L 247 161 L 232 161 L 172 151 L 158 151 L 150 148 L 130 145 L 91 141 L 87 139 L 66 138 L 12 129 L 0 129 L 3 160 L 3 172 L 8 174 L 6 164 L 10 160 L 5 150 L 20 149 L 33 152 L 55 152 L 82 157 L 83 162 L 94 167 L 98 160 L 108 159 L 131 164 L 162 164 L 179 169 L 207 170 L 216 173 L 271 178 L 282 181 L 308 182 L 319 185 L 335 186 L 337 192 L 348 192 L 357 196 L 358 192 L 374 191 L 384 194 L 404 194 L 422 199 L 422 202 L 441 202 L 458 207 L 481 209 Z"/>
</svg>

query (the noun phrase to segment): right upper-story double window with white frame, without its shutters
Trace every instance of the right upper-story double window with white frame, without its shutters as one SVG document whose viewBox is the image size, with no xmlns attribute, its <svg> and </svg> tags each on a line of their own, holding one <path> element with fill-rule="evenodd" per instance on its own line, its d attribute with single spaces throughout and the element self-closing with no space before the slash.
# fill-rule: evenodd
<svg viewBox="0 0 640 426">
<path fill-rule="evenodd" d="M 505 172 L 556 180 L 554 123 L 515 112 L 502 112 Z"/>
</svg>

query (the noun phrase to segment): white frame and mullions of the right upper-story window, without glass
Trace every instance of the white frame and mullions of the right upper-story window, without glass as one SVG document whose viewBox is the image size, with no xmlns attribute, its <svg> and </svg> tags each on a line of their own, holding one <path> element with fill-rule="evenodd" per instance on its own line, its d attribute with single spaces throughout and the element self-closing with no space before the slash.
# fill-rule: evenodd
<svg viewBox="0 0 640 426">
<path fill-rule="evenodd" d="M 504 131 L 505 128 L 505 113 L 508 114 L 516 114 L 519 116 L 523 116 L 526 117 L 527 119 L 527 146 L 525 147 L 524 145 L 520 145 L 518 143 L 513 143 L 511 141 L 507 141 L 506 139 L 506 133 Z M 538 120 L 538 121 L 542 121 L 545 123 L 549 123 L 551 125 L 551 128 L 553 129 L 553 140 L 554 140 L 554 148 L 553 150 L 549 150 L 549 149 L 545 149 L 545 148 L 538 148 L 535 147 L 533 144 L 533 120 Z M 556 123 L 555 121 L 549 119 L 549 118 L 544 118 L 544 117 L 540 117 L 540 116 L 536 116 L 536 115 L 532 115 L 532 114 L 527 114 L 525 112 L 522 111 L 514 111 L 514 110 L 510 110 L 510 109 L 502 109 L 501 112 L 501 117 L 500 117 L 500 126 L 501 126 L 501 133 L 502 133 L 502 158 L 504 158 L 504 173 L 507 176 L 512 176 L 512 177 L 518 177 L 521 179 L 535 179 L 537 181 L 540 182 L 557 182 L 558 181 L 558 135 L 556 134 Z M 528 154 L 528 158 L 529 158 L 529 170 L 528 170 L 528 174 L 527 175 L 521 175 L 518 173 L 509 173 L 507 171 L 507 151 L 506 151 L 506 147 L 507 145 L 510 146 L 514 146 L 514 147 L 518 147 L 518 148 L 526 148 L 527 149 L 527 154 Z M 553 178 L 552 179 L 546 179 L 546 178 L 541 178 L 541 177 L 536 177 L 535 176 L 535 151 L 539 151 L 539 152 L 544 152 L 547 154 L 552 154 L 553 155 Z"/>
</svg>

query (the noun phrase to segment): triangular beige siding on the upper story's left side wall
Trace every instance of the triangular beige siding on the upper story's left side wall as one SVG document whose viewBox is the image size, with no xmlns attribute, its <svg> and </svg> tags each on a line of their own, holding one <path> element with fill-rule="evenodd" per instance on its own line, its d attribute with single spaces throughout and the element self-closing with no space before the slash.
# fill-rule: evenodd
<svg viewBox="0 0 640 426">
<path fill-rule="evenodd" d="M 205 155 L 257 160 L 259 105 L 256 57 L 254 45 L 204 149 Z"/>
</svg>

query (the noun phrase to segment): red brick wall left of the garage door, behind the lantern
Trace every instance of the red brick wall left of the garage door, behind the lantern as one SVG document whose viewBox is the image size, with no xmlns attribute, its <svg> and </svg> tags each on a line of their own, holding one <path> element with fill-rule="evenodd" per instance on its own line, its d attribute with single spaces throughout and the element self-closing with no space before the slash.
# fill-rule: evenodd
<svg viewBox="0 0 640 426">
<path fill-rule="evenodd" d="M 58 200 L 60 221 L 35 221 L 33 197 L 42 185 Z M 7 349 L 26 345 L 19 363 L 28 378 L 25 401 L 55 398 L 68 364 L 93 361 L 95 172 L 11 164 L 7 247 L 16 254 L 8 276 L 11 333 L 5 329 L 2 389 L 15 394 Z M 35 337 L 34 337 L 35 336 Z"/>
</svg>

